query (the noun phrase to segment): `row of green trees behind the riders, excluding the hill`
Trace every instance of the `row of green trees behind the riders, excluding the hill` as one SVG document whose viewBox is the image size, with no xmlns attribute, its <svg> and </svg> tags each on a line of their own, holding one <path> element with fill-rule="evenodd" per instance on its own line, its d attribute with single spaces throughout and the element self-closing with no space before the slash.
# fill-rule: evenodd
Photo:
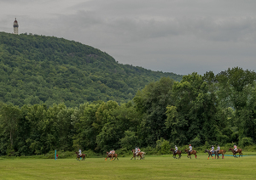
<svg viewBox="0 0 256 180">
<path fill-rule="evenodd" d="M 54 149 L 147 151 L 174 144 L 238 143 L 256 140 L 256 74 L 232 68 L 214 75 L 192 73 L 180 82 L 150 82 L 124 104 L 86 102 L 0 104 L 0 155 L 44 155 Z M 209 148 L 209 147 L 208 147 Z"/>
</svg>

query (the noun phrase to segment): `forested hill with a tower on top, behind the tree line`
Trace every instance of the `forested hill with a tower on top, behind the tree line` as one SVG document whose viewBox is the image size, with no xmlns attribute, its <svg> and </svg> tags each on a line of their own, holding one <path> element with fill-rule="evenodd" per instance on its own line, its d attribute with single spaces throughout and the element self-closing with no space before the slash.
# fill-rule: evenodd
<svg viewBox="0 0 256 180">
<path fill-rule="evenodd" d="M 114 100 L 125 103 L 138 89 L 174 73 L 121 65 L 108 53 L 57 37 L 0 32 L 0 101 L 59 104 Z"/>
</svg>

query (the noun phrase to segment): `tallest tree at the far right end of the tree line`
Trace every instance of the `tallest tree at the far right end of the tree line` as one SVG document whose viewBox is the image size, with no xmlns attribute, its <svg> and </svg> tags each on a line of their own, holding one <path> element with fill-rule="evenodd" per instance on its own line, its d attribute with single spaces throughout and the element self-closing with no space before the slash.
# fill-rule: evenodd
<svg viewBox="0 0 256 180">
<path fill-rule="evenodd" d="M 219 86 L 218 96 L 224 99 L 223 107 L 230 106 L 235 110 L 234 126 L 238 127 L 239 140 L 241 140 L 249 136 L 248 129 L 250 128 L 247 126 L 251 125 L 248 121 L 252 120 L 256 73 L 235 67 L 219 73 L 216 79 Z"/>
</svg>

